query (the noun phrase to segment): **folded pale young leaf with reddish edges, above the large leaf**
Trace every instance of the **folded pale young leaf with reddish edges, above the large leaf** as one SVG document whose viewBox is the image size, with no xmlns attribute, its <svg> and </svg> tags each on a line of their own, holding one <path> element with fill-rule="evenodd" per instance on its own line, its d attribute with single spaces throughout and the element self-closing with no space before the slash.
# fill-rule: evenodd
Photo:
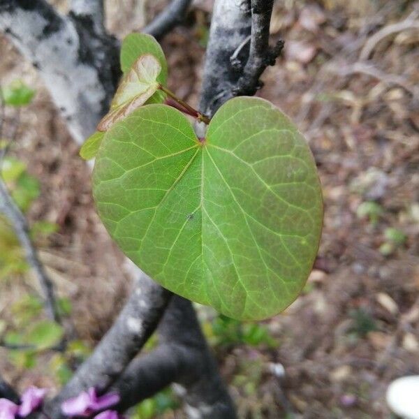
<svg viewBox="0 0 419 419">
<path fill-rule="evenodd" d="M 98 131 L 108 129 L 121 121 L 149 99 L 159 88 L 157 76 L 161 64 L 152 54 L 141 55 L 124 75 L 110 105 L 110 111 L 101 119 Z"/>
</svg>

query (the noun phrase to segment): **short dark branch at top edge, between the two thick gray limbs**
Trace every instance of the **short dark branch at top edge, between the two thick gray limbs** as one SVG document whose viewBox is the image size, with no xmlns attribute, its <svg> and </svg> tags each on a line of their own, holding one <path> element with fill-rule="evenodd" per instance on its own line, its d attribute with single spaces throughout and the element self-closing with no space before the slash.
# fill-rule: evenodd
<svg viewBox="0 0 419 419">
<path fill-rule="evenodd" d="M 178 24 L 181 24 L 191 0 L 172 0 L 171 3 L 152 22 L 142 29 L 145 34 L 150 34 L 156 39 L 163 38 Z"/>
</svg>

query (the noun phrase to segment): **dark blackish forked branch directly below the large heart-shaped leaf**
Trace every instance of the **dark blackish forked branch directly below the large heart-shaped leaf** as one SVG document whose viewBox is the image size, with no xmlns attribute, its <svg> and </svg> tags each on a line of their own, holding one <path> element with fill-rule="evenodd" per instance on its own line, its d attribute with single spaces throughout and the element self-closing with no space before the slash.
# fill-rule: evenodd
<svg viewBox="0 0 419 419">
<path fill-rule="evenodd" d="M 219 376 L 191 302 L 174 296 L 159 326 L 160 346 L 131 362 L 115 384 L 119 408 L 150 397 L 170 383 L 184 388 L 191 418 L 235 419 L 233 402 Z"/>
</svg>

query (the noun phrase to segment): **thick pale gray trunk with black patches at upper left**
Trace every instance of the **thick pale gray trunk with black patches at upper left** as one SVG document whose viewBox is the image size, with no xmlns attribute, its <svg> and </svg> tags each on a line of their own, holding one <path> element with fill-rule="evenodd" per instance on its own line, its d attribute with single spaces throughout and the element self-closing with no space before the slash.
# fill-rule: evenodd
<svg viewBox="0 0 419 419">
<path fill-rule="evenodd" d="M 96 4 L 96 1 L 93 1 Z M 91 15 L 59 15 L 45 0 L 1 0 L 0 31 L 38 69 L 52 100 L 82 144 L 108 110 L 119 79 L 117 41 Z"/>
</svg>

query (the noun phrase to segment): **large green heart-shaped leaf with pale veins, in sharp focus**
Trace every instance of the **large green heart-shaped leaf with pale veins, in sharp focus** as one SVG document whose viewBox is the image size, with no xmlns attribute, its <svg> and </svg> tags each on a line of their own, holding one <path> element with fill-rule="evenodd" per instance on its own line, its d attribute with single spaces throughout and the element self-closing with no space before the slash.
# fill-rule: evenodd
<svg viewBox="0 0 419 419">
<path fill-rule="evenodd" d="M 234 98 L 202 142 L 181 112 L 147 105 L 113 126 L 94 168 L 119 247 L 169 290 L 239 319 L 291 304 L 321 236 L 313 156 L 272 104 Z"/>
</svg>

